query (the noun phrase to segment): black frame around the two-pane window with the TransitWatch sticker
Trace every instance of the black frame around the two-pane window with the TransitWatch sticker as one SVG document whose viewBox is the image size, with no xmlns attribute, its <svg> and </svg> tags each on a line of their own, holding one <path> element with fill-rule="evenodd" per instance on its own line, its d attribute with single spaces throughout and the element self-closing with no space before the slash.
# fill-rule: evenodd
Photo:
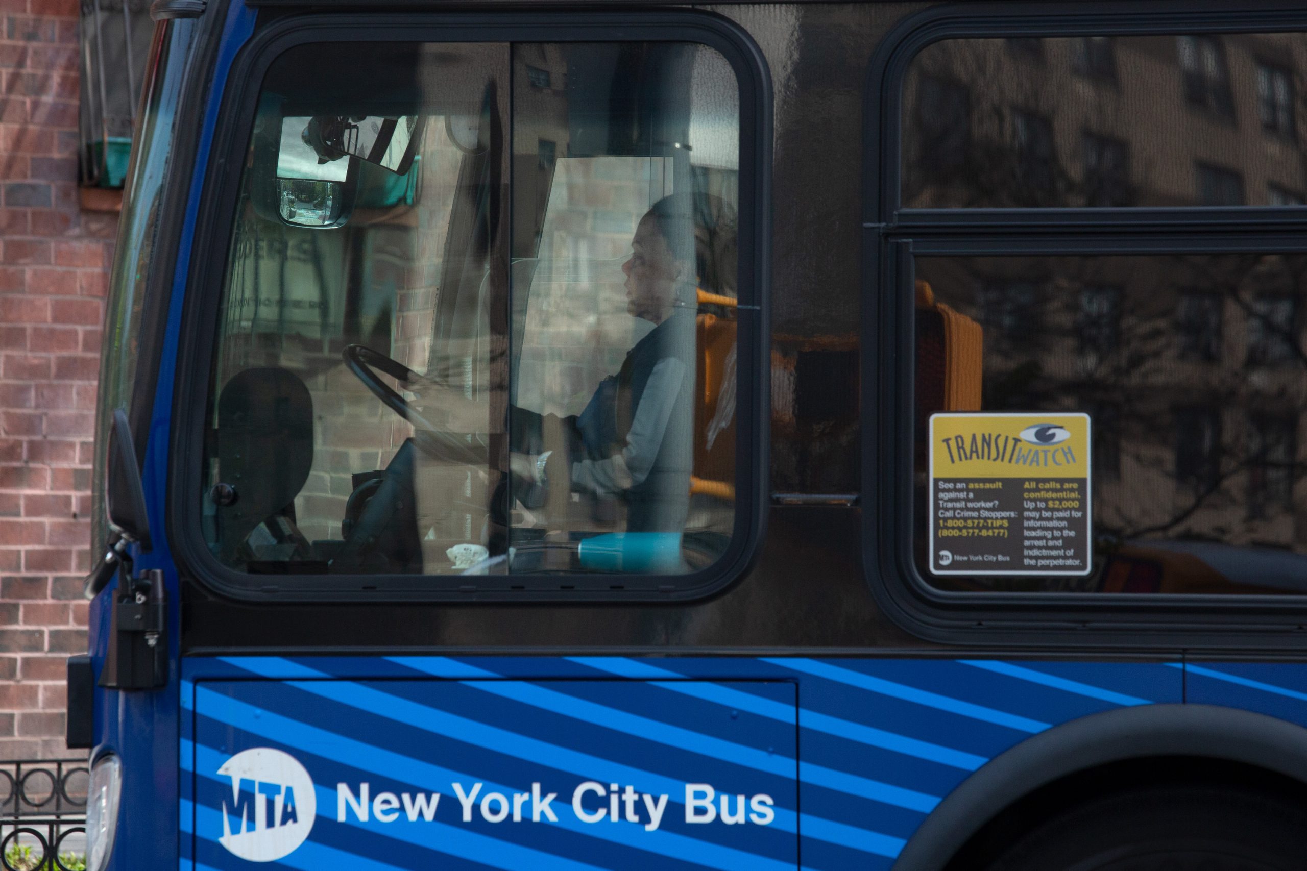
<svg viewBox="0 0 1307 871">
<path fill-rule="evenodd" d="M 1297 648 L 1307 595 L 963 593 L 933 588 L 912 554 L 914 259 L 1307 253 L 1307 209 L 903 208 L 903 85 L 912 60 L 945 39 L 1307 33 L 1286 3 L 1199 10 L 1185 4 L 937 7 L 901 21 L 872 59 L 864 124 L 863 565 L 886 615 L 944 644 L 1053 648 Z M 904 511 L 903 507 L 910 507 Z"/>
</svg>

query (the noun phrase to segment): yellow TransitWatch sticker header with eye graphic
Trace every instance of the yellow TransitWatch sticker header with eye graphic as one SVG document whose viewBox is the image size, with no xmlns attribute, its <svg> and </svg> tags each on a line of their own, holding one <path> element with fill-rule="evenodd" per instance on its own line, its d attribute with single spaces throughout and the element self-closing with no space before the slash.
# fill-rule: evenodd
<svg viewBox="0 0 1307 871">
<path fill-rule="evenodd" d="M 1082 413 L 931 415 L 932 478 L 1089 478 Z"/>
</svg>

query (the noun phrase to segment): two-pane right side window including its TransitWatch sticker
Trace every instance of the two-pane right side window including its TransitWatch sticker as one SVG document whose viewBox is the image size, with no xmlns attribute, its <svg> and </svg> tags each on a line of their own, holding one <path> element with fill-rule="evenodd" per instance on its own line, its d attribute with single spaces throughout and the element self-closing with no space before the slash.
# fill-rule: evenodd
<svg viewBox="0 0 1307 871">
<path fill-rule="evenodd" d="M 1307 35 L 968 26 L 923 43 L 886 119 L 902 148 L 884 242 L 932 234 L 895 289 L 915 360 L 907 573 L 963 593 L 1307 594 L 1307 253 L 1272 238 L 1307 187 Z M 1212 251 L 1176 242 L 1216 209 Z M 979 415 L 975 451 L 931 437 L 958 413 Z M 1027 441 L 995 428 L 1018 417 Z M 1030 462 L 1072 418 L 1085 477 L 1063 486 Z M 1009 436 L 1035 460 L 985 447 Z M 953 447 L 992 475 L 936 474 Z M 1001 488 L 989 477 L 1025 496 L 978 490 Z"/>
</svg>

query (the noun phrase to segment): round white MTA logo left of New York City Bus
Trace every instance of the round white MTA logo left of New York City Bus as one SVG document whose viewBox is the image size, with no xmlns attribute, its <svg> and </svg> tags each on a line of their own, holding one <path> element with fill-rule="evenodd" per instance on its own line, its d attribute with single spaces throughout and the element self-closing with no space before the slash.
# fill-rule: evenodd
<svg viewBox="0 0 1307 871">
<path fill-rule="evenodd" d="M 250 862 L 290 855 L 314 828 L 318 799 L 308 772 L 294 756 L 271 747 L 244 750 L 218 769 L 231 778 L 222 795 L 218 842 Z"/>
</svg>

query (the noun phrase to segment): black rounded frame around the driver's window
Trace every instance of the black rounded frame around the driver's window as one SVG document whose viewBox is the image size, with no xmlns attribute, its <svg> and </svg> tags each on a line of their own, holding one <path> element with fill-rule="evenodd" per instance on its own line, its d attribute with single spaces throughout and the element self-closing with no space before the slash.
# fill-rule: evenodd
<svg viewBox="0 0 1307 871">
<path fill-rule="evenodd" d="M 216 325 L 240 174 L 264 74 L 282 52 L 322 42 L 694 42 L 719 51 L 740 87 L 740 302 L 736 517 L 707 569 L 669 575 L 251 575 L 222 565 L 200 522 L 205 410 Z M 167 538 L 179 569 L 226 597 L 255 602 L 680 602 L 720 593 L 757 559 L 765 533 L 770 419 L 771 77 L 762 51 L 729 20 L 704 12 L 395 13 L 278 17 L 240 50 L 225 94 L 196 226 L 176 363 Z M 193 397 L 205 397 L 196 402 Z M 285 577 L 293 578 L 286 582 Z"/>
</svg>

